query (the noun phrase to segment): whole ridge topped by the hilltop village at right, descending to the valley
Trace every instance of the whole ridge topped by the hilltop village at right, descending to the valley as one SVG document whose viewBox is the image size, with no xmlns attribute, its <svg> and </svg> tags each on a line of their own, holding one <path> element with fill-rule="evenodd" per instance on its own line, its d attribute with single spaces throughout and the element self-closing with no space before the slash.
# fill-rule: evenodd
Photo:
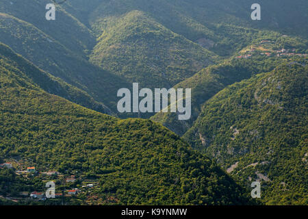
<svg viewBox="0 0 308 219">
<path fill-rule="evenodd" d="M 300 53 L 303 55 L 308 53 L 307 40 L 287 37 L 274 32 L 268 34 L 264 37 L 270 42 L 264 43 L 264 38 L 253 40 L 253 44 L 242 49 L 238 55 L 204 68 L 174 86 L 174 88 L 192 88 L 192 117 L 190 120 L 180 121 L 176 114 L 161 112 L 152 116 L 151 119 L 175 133 L 183 135 L 192 127 L 205 101 L 226 86 L 258 73 L 269 72 L 281 63 L 300 59 L 302 56 Z M 285 48 L 287 54 L 277 56 L 281 53 L 281 48 Z"/>
</svg>

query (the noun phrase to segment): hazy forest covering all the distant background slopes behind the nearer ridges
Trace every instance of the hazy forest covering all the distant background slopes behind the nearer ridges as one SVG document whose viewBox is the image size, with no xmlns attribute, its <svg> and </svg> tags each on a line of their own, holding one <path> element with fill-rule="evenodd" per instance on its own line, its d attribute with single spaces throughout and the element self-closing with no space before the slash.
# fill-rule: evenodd
<svg viewBox="0 0 308 219">
<path fill-rule="evenodd" d="M 266 8 L 264 18 L 268 19 L 272 11 L 272 19 L 281 25 L 275 31 L 270 22 L 264 22 L 269 26 L 263 27 L 247 21 L 251 5 L 240 0 L 66 1 L 57 5 L 57 18 L 52 22 L 44 18 L 47 3 L 1 1 L 0 42 L 86 92 L 113 114 L 116 91 L 129 88 L 131 82 L 149 88 L 170 88 L 252 42 L 282 39 L 282 34 L 288 37 L 287 42 L 285 37 L 280 40 L 279 49 L 290 42 L 305 49 L 305 41 L 296 38 L 303 34 L 295 32 L 305 31 L 305 14 L 290 11 L 287 1 L 283 12 L 290 21 L 279 14 L 277 1 L 262 2 Z M 304 3 L 294 5 L 296 10 L 305 8 L 301 4 Z M 281 31 L 285 29 L 289 31 Z"/>
</svg>

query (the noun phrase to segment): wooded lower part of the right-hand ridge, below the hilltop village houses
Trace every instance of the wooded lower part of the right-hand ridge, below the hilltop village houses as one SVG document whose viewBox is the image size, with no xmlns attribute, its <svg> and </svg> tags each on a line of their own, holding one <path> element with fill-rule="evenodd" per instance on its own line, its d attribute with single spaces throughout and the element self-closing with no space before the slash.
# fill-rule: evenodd
<svg viewBox="0 0 308 219">
<path fill-rule="evenodd" d="M 198 118 L 205 101 L 235 81 L 241 81 L 257 73 L 272 70 L 278 62 L 274 59 L 267 62 L 266 60 L 264 57 L 261 57 L 261 60 L 232 58 L 221 64 L 204 68 L 196 75 L 175 86 L 175 88 L 192 88 L 192 117 L 190 120 L 178 120 L 177 114 L 163 112 L 155 114 L 151 119 L 183 136 Z"/>
</svg>

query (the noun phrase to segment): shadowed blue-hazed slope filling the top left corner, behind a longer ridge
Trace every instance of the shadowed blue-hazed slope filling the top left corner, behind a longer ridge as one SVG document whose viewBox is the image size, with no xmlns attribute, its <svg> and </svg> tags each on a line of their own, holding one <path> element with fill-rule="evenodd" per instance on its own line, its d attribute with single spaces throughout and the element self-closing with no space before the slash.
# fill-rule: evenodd
<svg viewBox="0 0 308 219">
<path fill-rule="evenodd" d="M 52 1 L 30 0 L 25 3 L 20 0 L 2 0 L 0 13 L 10 14 L 31 23 L 70 51 L 81 56 L 86 55 L 87 50 L 91 50 L 95 44 L 92 31 L 63 10 L 61 5 L 56 6 L 55 21 L 47 21 L 45 18 L 47 3 Z"/>
</svg>

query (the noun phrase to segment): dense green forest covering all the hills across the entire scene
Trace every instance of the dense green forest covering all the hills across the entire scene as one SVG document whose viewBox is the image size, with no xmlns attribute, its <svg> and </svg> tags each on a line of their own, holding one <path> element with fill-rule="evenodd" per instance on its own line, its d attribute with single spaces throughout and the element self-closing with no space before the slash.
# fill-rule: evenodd
<svg viewBox="0 0 308 219">
<path fill-rule="evenodd" d="M 47 3 L 0 1 L 0 205 L 308 204 L 307 1 Z M 134 82 L 192 117 L 118 113 Z"/>
</svg>

